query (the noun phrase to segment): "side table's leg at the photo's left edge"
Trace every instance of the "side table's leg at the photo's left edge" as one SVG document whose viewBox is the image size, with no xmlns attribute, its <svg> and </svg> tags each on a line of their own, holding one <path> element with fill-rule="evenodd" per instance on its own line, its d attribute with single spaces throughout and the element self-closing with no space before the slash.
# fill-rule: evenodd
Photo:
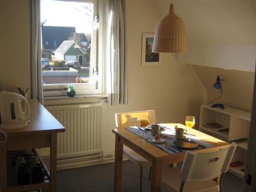
<svg viewBox="0 0 256 192">
<path fill-rule="evenodd" d="M 0 191 L 7 191 L 6 143 L 0 143 Z"/>
</svg>

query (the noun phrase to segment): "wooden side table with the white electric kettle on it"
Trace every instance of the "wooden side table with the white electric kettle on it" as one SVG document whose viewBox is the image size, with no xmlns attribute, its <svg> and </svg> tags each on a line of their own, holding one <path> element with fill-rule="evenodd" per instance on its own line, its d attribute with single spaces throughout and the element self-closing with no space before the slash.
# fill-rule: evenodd
<svg viewBox="0 0 256 192">
<path fill-rule="evenodd" d="M 57 133 L 65 132 L 63 127 L 37 100 L 30 99 L 30 122 L 20 129 L 3 129 L 8 136 L 6 143 L 0 143 L 0 188 L 1 192 L 27 191 L 50 188 L 56 191 Z M 28 148 L 50 147 L 50 170 L 45 167 L 49 180 L 42 183 L 18 185 L 7 177 L 7 152 Z M 44 165 L 44 163 L 42 162 Z M 9 174 L 8 174 L 9 175 Z M 15 184 L 13 184 L 15 183 Z"/>
</svg>

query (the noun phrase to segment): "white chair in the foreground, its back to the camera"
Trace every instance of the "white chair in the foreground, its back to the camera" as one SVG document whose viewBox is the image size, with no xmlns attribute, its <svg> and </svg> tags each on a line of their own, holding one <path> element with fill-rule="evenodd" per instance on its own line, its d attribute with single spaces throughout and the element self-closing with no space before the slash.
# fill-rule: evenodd
<svg viewBox="0 0 256 192">
<path fill-rule="evenodd" d="M 211 152 L 191 152 L 185 156 L 182 168 L 164 168 L 162 184 L 169 191 L 216 192 L 220 186 L 212 179 L 227 172 L 237 144 Z"/>
</svg>

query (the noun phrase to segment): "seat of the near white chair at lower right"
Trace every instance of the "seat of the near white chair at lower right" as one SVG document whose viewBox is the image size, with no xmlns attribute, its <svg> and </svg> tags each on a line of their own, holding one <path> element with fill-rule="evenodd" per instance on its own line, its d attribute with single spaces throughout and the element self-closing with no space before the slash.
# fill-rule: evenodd
<svg viewBox="0 0 256 192">
<path fill-rule="evenodd" d="M 180 191 L 180 170 L 181 167 L 163 168 L 162 185 L 168 188 L 168 191 Z M 220 187 L 215 181 L 189 181 L 185 183 L 183 192 L 219 192 Z"/>
</svg>

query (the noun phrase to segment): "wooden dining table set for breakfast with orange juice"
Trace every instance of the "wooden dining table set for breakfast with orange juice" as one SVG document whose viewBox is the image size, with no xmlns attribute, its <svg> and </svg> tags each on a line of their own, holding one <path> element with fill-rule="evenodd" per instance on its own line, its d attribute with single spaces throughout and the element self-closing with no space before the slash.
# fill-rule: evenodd
<svg viewBox="0 0 256 192">
<path fill-rule="evenodd" d="M 170 130 L 175 129 L 175 126 L 177 126 L 189 132 L 189 128 L 181 123 L 165 123 L 165 125 L 169 127 L 168 129 Z M 118 129 L 112 130 L 115 134 L 114 191 L 122 191 L 123 145 L 130 147 L 133 151 L 152 163 L 151 191 L 160 191 L 163 166 L 183 162 L 186 152 L 167 153 L 162 148 L 148 142 L 148 139 L 143 139 L 126 128 L 127 127 L 119 127 Z M 202 133 L 196 129 L 190 129 L 190 136 L 211 145 L 211 147 L 200 147 L 200 149 L 193 151 L 214 151 L 229 145 L 229 143 L 225 141 Z M 161 137 L 163 137 L 163 135 Z M 164 137 L 168 137 L 168 135 L 164 135 Z M 220 176 L 216 178 L 216 180 L 219 182 Z"/>
</svg>

